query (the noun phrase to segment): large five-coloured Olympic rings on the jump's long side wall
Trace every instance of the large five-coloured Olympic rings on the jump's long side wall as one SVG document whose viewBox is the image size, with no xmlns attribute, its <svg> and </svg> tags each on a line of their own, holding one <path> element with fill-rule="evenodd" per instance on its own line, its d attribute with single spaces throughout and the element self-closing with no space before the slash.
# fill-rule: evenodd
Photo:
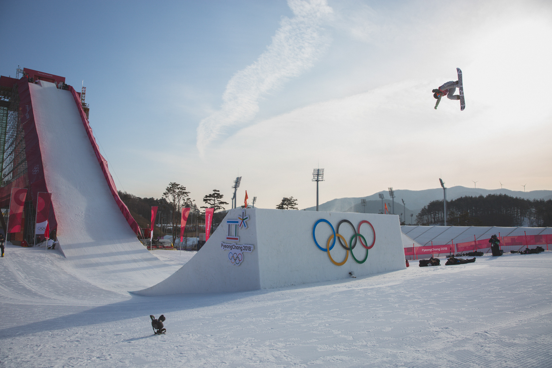
<svg viewBox="0 0 552 368">
<path fill-rule="evenodd" d="M 315 234 L 316 226 L 321 222 L 327 223 L 328 226 L 330 226 L 330 228 L 332 230 L 332 234 L 330 235 L 330 237 L 328 237 L 328 241 L 326 242 L 326 247 L 325 248 L 322 248 L 320 246 L 320 244 L 316 241 L 316 234 Z M 351 239 L 349 239 L 349 245 L 347 245 L 347 239 L 345 239 L 341 234 L 339 234 L 339 226 L 341 226 L 343 223 L 348 223 L 349 226 L 351 226 L 351 228 L 353 229 L 353 236 L 351 237 Z M 364 238 L 364 236 L 360 233 L 360 226 L 362 226 L 364 223 L 367 224 L 368 226 L 370 226 L 370 229 L 371 229 L 371 231 L 374 235 L 372 243 L 369 246 L 368 246 L 368 242 L 366 241 L 366 238 Z M 335 264 L 336 266 L 344 265 L 347 262 L 347 259 L 349 259 L 349 253 L 351 253 L 351 255 L 352 255 L 353 259 L 355 260 L 355 262 L 362 264 L 362 263 L 366 262 L 366 260 L 368 259 L 368 250 L 371 249 L 372 247 L 374 247 L 374 244 L 376 242 L 376 232 L 374 230 L 374 226 L 372 226 L 372 224 L 369 221 L 366 221 L 366 220 L 360 221 L 358 223 L 357 228 L 354 227 L 354 225 L 351 221 L 341 220 L 337 224 L 337 232 L 336 232 L 336 230 L 334 230 L 334 228 L 333 228 L 332 224 L 330 223 L 330 221 L 325 220 L 324 218 L 321 218 L 320 220 L 316 221 L 314 226 L 312 227 L 312 239 L 314 239 L 314 243 L 316 244 L 318 249 L 322 250 L 322 252 L 327 252 L 328 253 L 328 258 L 330 258 L 331 262 L 333 264 Z M 339 245 L 343 249 L 345 249 L 345 258 L 343 259 L 342 262 L 336 262 L 332 258 L 332 255 L 330 254 L 330 250 L 332 250 L 333 246 L 336 245 L 336 239 L 339 242 Z M 364 259 L 362 259 L 362 260 L 357 259 L 357 257 L 355 257 L 354 253 L 353 253 L 354 247 L 357 246 L 357 241 L 359 241 L 360 245 L 364 249 L 366 249 L 366 254 L 364 255 Z M 332 243 L 331 246 L 330 246 L 330 243 Z"/>
</svg>

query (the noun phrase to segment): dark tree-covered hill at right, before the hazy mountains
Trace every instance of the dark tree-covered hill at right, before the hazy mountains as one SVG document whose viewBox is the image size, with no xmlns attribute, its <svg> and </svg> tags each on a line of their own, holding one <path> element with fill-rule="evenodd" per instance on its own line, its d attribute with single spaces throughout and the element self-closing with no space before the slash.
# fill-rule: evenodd
<svg viewBox="0 0 552 368">
<path fill-rule="evenodd" d="M 443 200 L 429 202 L 416 216 L 420 225 L 443 225 Z M 507 194 L 463 196 L 447 201 L 447 225 L 552 226 L 552 200 L 524 199 Z"/>
</svg>

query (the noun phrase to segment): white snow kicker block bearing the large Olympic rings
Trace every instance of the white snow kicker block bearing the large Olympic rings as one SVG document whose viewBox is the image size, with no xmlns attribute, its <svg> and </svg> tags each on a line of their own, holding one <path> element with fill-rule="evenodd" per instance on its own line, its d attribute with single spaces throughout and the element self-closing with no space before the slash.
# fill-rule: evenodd
<svg viewBox="0 0 552 368">
<path fill-rule="evenodd" d="M 159 284 L 134 293 L 153 296 L 269 289 L 346 279 L 349 271 L 354 271 L 355 276 L 364 276 L 406 268 L 399 216 L 268 209 L 247 209 L 248 228 L 238 229 L 240 240 L 235 243 L 252 244 L 254 249 L 243 253 L 243 262 L 236 266 L 228 258 L 229 251 L 221 249 L 221 243 L 233 243 L 226 240 L 226 220 L 237 219 L 241 214 L 242 209 L 230 210 L 188 263 Z M 355 228 L 360 221 L 369 221 L 374 226 L 376 239 L 366 262 L 358 264 L 349 255 L 342 266 L 331 263 L 327 253 L 317 248 L 312 238 L 312 228 L 320 218 L 328 220 L 336 231 L 343 219 L 351 221 Z M 339 233 L 349 242 L 353 230 L 343 223 Z M 368 225 L 363 225 L 360 233 L 371 243 Z M 326 247 L 331 235 L 326 223 L 317 226 L 316 237 L 322 247 Z M 365 249 L 360 243 L 353 252 L 357 259 L 364 259 Z M 337 262 L 343 260 L 345 253 L 337 242 L 331 250 Z"/>
</svg>

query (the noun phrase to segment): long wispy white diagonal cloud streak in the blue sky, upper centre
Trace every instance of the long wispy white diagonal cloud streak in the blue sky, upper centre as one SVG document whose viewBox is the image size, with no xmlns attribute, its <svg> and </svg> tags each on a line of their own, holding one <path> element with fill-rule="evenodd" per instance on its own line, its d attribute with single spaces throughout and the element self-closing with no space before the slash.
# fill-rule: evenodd
<svg viewBox="0 0 552 368">
<path fill-rule="evenodd" d="M 251 121 L 259 110 L 259 98 L 309 70 L 326 50 L 329 42 L 321 24 L 333 11 L 326 0 L 288 0 L 288 6 L 294 17 L 282 19 L 267 50 L 232 76 L 222 95 L 221 109 L 201 120 L 197 131 L 201 154 L 228 129 Z"/>
</svg>

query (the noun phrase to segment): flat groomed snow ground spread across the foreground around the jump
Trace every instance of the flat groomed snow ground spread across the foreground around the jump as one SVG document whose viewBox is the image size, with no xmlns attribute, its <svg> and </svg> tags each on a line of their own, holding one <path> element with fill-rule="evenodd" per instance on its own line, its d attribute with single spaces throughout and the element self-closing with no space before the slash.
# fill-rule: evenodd
<svg viewBox="0 0 552 368">
<path fill-rule="evenodd" d="M 552 252 L 145 297 L 75 279 L 56 252 L 6 250 L 2 367 L 552 366 Z M 152 253 L 183 262 L 176 251 Z M 148 316 L 161 313 L 167 334 L 156 336 Z"/>
</svg>

